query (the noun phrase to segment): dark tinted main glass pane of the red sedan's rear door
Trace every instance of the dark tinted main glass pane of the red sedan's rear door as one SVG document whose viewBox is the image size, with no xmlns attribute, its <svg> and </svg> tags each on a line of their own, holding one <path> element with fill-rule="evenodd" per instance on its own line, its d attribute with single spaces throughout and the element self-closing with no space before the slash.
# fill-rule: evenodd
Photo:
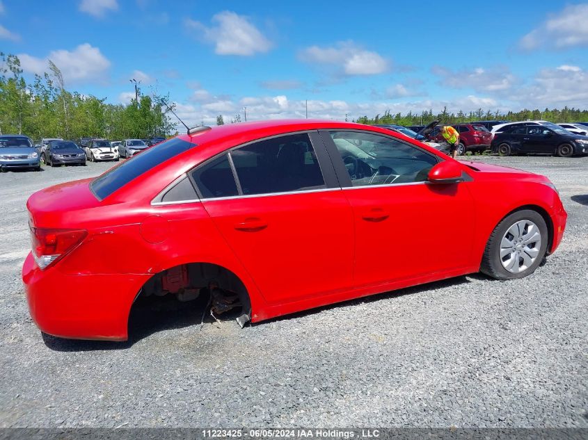
<svg viewBox="0 0 588 440">
<path fill-rule="evenodd" d="M 243 195 L 326 188 L 306 133 L 255 142 L 230 155 Z"/>
</svg>

